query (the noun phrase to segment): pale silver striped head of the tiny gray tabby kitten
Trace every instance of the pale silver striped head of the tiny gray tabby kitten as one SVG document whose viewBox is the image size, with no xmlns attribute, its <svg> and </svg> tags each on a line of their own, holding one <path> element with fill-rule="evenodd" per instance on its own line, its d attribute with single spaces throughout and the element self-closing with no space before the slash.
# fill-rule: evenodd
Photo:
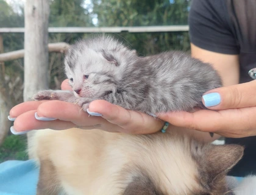
<svg viewBox="0 0 256 195">
<path fill-rule="evenodd" d="M 66 53 L 66 76 L 76 96 L 100 97 L 118 91 L 124 66 L 136 57 L 136 52 L 112 37 L 81 40 Z"/>
</svg>

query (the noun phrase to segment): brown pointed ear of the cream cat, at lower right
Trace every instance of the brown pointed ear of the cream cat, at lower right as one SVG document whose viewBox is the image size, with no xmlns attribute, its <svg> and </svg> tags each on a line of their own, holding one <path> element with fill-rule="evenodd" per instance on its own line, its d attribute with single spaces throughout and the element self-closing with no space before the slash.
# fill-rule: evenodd
<svg viewBox="0 0 256 195">
<path fill-rule="evenodd" d="M 203 161 L 211 179 L 226 174 L 243 157 L 244 147 L 235 144 L 212 145 L 205 150 Z"/>
</svg>

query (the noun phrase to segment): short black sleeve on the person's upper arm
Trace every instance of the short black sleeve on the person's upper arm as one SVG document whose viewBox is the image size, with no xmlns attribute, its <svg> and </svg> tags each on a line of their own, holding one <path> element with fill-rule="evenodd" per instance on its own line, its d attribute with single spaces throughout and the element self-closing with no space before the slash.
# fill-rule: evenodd
<svg viewBox="0 0 256 195">
<path fill-rule="evenodd" d="M 225 0 L 192 0 L 188 17 L 190 41 L 199 48 L 239 54 Z"/>
</svg>

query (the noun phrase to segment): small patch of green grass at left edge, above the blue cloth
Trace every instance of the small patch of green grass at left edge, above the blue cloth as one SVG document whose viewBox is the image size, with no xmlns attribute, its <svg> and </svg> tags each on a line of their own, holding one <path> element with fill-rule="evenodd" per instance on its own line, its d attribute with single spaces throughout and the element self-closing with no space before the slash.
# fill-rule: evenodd
<svg viewBox="0 0 256 195">
<path fill-rule="evenodd" d="M 0 163 L 7 160 L 27 160 L 26 136 L 9 135 L 0 146 Z"/>
</svg>

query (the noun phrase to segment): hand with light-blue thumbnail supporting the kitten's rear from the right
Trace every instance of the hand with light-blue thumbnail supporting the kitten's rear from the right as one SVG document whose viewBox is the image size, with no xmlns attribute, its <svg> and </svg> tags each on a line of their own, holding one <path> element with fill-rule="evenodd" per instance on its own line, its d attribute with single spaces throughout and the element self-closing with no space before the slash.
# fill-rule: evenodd
<svg viewBox="0 0 256 195">
<path fill-rule="evenodd" d="M 242 138 L 256 135 L 256 80 L 207 91 L 202 98 L 210 110 L 194 113 L 172 112 L 157 115 L 174 126 L 224 137 Z"/>
</svg>

